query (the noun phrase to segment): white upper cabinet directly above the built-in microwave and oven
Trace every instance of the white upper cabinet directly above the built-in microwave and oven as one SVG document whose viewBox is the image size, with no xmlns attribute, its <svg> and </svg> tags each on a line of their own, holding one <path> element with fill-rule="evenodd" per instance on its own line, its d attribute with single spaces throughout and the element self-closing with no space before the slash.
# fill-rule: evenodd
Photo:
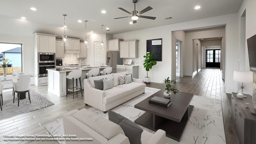
<svg viewBox="0 0 256 144">
<path fill-rule="evenodd" d="M 37 52 L 56 52 L 56 36 L 52 34 L 34 33 L 34 45 Z"/>
</svg>

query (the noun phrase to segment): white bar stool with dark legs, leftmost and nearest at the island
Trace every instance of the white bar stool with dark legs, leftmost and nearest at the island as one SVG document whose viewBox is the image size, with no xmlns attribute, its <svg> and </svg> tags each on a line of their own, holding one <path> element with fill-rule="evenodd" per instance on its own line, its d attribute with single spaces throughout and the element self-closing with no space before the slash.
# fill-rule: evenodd
<svg viewBox="0 0 256 144">
<path fill-rule="evenodd" d="M 79 90 L 81 91 L 81 94 L 83 96 L 81 76 L 82 76 L 82 70 L 74 70 L 74 71 L 70 72 L 68 74 L 68 76 L 66 76 L 66 97 L 68 96 L 68 90 L 73 92 L 73 99 L 74 99 L 74 92 L 76 92 L 76 94 L 77 94 L 77 91 L 79 91 Z M 73 86 L 72 89 L 68 89 L 68 79 L 72 80 L 72 86 Z M 74 79 L 76 79 L 76 87 L 74 87 Z M 77 87 L 77 79 L 79 79 L 80 88 Z M 74 90 L 74 88 L 76 88 L 76 90 Z"/>
</svg>

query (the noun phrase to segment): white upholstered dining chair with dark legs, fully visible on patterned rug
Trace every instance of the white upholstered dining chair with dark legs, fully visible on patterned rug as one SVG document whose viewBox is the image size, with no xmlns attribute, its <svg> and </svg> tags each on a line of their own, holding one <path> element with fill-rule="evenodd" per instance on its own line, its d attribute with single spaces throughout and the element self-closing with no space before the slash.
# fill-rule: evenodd
<svg viewBox="0 0 256 144">
<path fill-rule="evenodd" d="M 28 92 L 28 99 L 31 104 L 30 100 L 30 74 L 20 74 L 19 79 L 17 82 L 13 82 L 12 86 L 14 88 L 14 94 L 13 94 L 13 103 L 15 98 L 15 92 L 18 94 L 18 106 L 20 104 L 20 94 L 26 94 Z"/>
</svg>

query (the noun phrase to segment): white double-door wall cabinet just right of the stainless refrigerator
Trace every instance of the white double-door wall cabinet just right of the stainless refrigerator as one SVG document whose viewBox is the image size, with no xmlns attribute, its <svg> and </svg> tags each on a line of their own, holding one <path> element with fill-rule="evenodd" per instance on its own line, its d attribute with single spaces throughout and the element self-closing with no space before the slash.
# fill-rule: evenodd
<svg viewBox="0 0 256 144">
<path fill-rule="evenodd" d="M 120 42 L 120 58 L 138 58 L 138 41 L 129 40 Z"/>
</svg>

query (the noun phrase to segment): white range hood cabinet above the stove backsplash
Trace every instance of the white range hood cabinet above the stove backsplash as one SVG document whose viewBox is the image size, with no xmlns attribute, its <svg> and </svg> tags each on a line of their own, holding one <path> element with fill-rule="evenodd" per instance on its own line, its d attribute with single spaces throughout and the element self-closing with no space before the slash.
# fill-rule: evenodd
<svg viewBox="0 0 256 144">
<path fill-rule="evenodd" d="M 68 46 L 65 46 L 66 53 L 80 53 L 80 39 L 68 38 Z"/>
</svg>

